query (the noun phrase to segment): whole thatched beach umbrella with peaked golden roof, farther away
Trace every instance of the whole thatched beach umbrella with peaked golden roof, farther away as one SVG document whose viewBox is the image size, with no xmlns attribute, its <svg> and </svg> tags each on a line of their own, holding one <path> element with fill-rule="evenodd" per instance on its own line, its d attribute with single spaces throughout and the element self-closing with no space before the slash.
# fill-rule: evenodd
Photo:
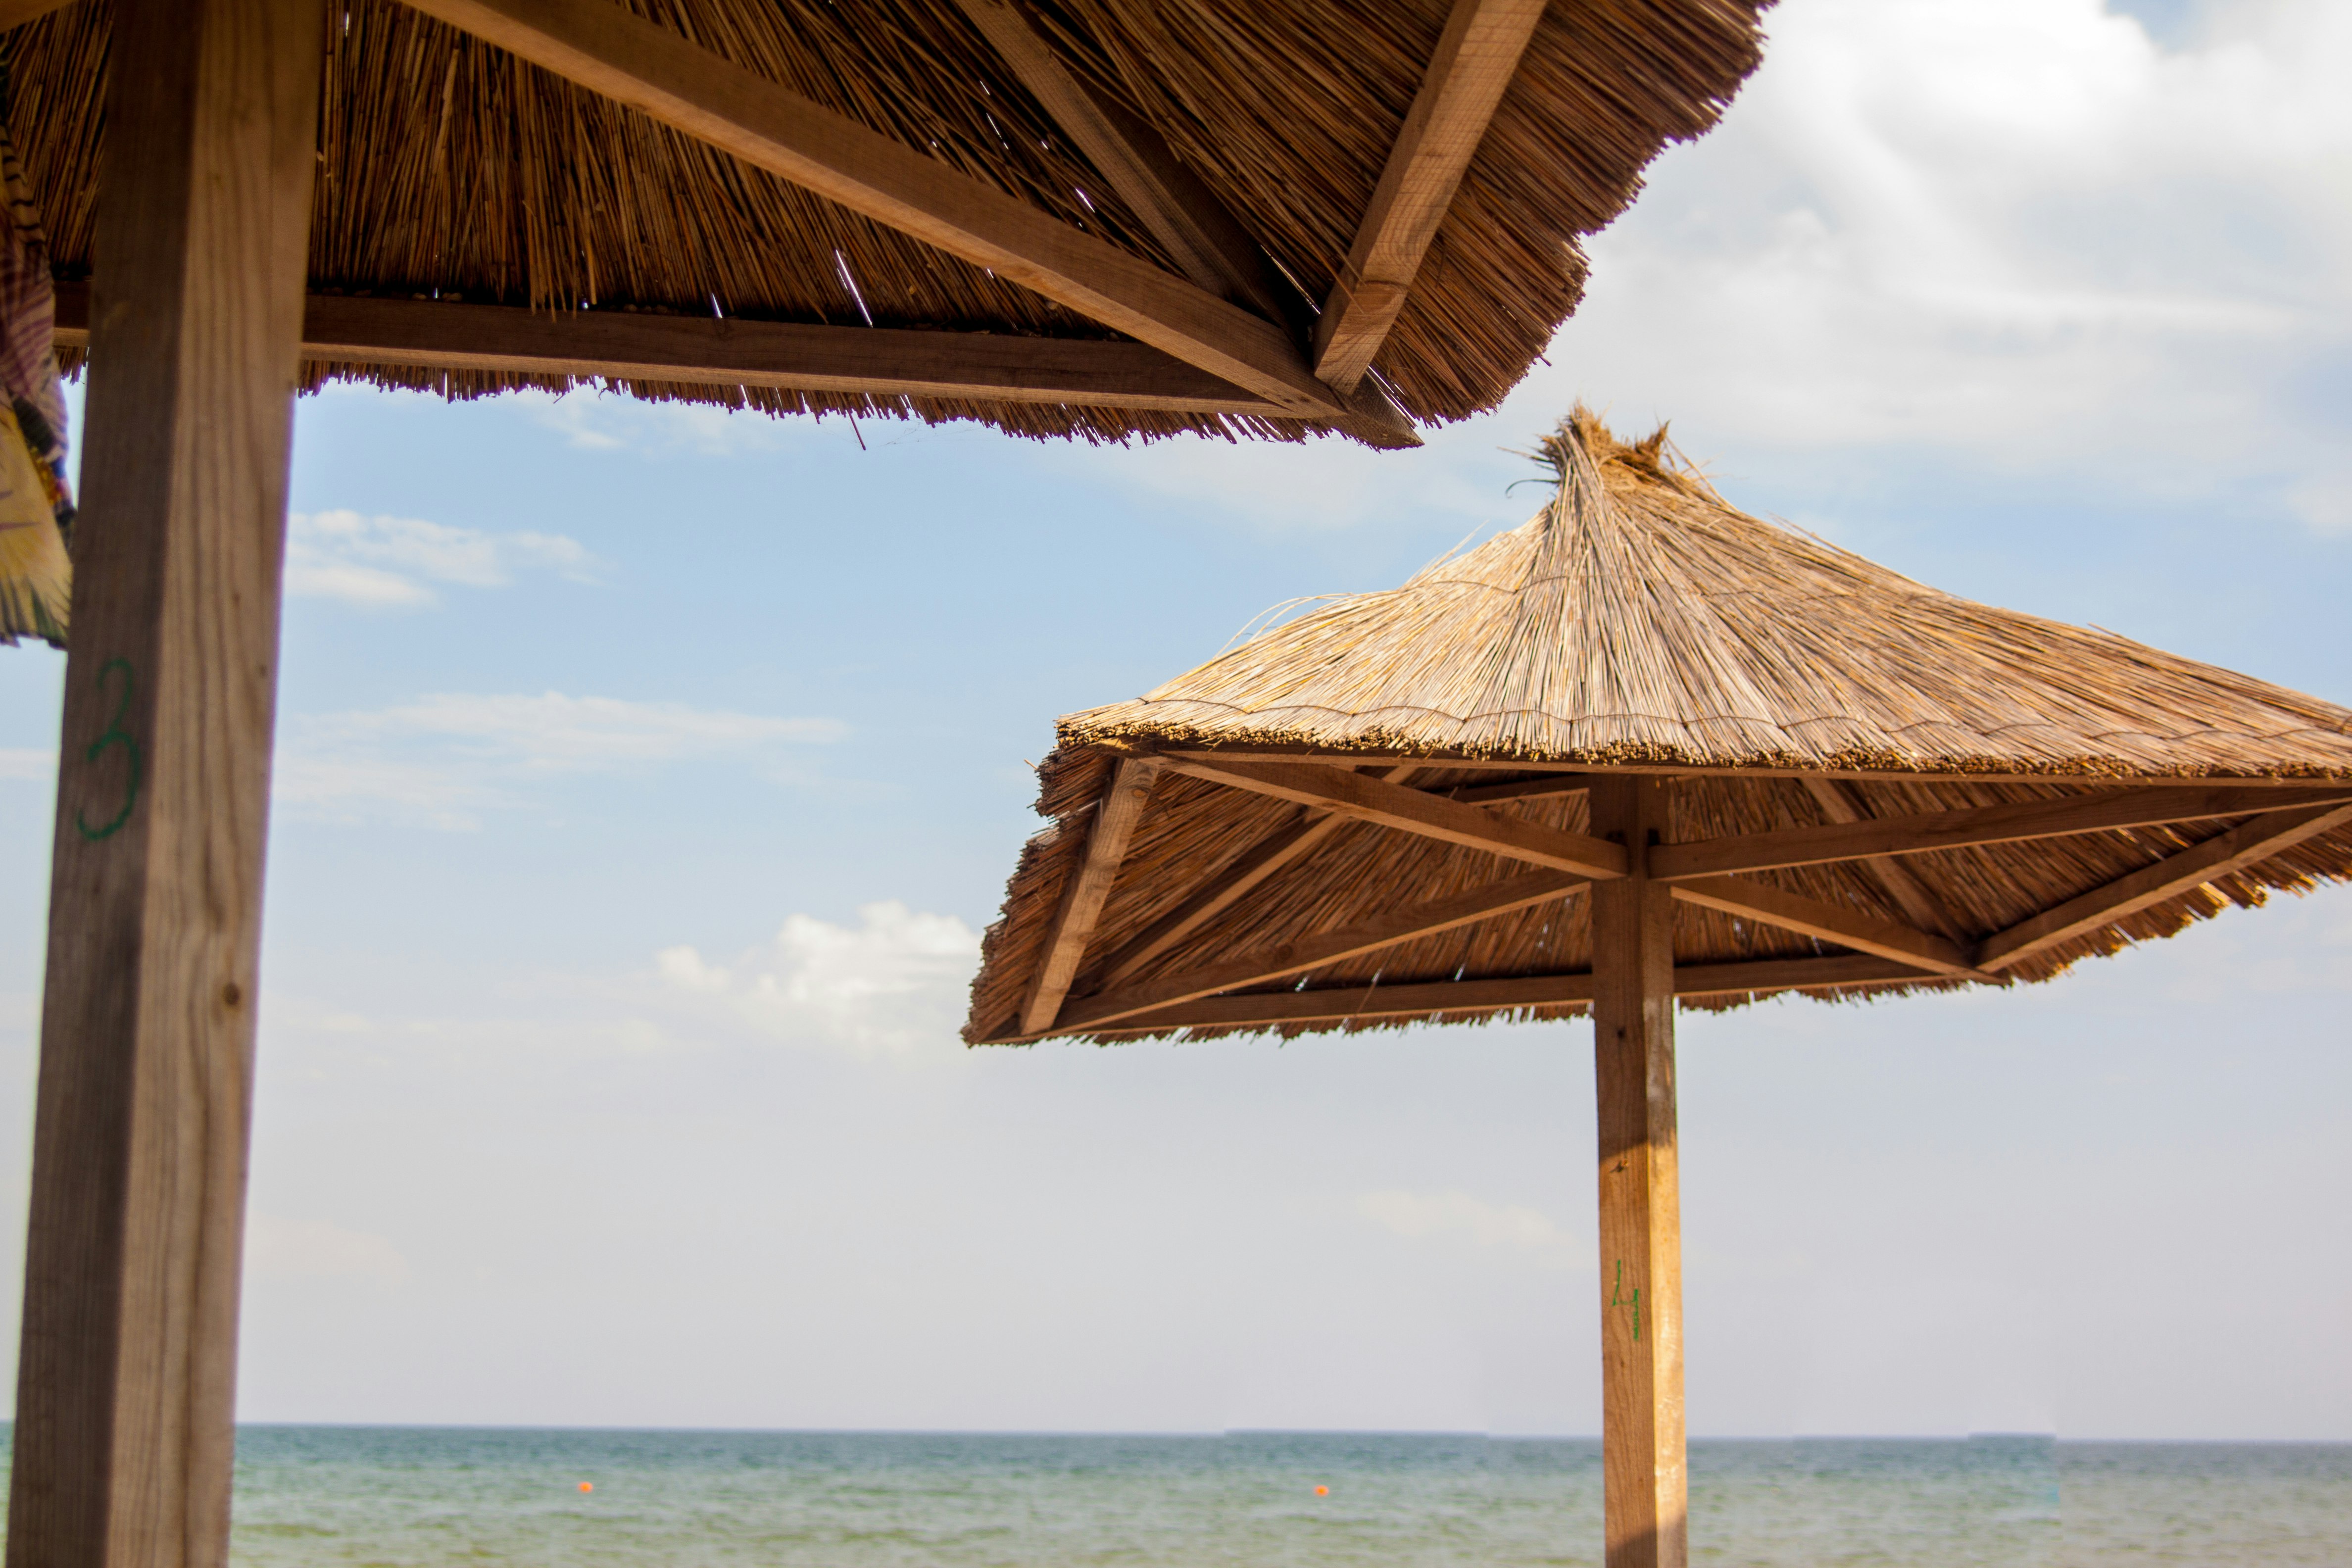
<svg viewBox="0 0 2352 1568">
<path fill-rule="evenodd" d="M 2352 710 L 1936 592 L 1578 409 L 1529 524 L 1061 722 L 971 1044 L 1595 1020 L 1611 1568 L 1684 1561 L 1675 1009 L 2352 877 Z"/>
</svg>

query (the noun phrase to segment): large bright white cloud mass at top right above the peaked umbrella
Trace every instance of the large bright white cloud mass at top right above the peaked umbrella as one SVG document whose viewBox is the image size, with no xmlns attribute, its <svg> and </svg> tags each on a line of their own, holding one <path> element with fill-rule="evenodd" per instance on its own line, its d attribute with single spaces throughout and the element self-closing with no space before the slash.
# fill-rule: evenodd
<svg viewBox="0 0 2352 1568">
<path fill-rule="evenodd" d="M 2352 49 L 2340 0 L 2154 42 L 2098 0 L 1783 0 L 1724 125 L 1590 242 L 1498 418 L 1416 456 L 1171 442 L 1110 484 L 1254 527 L 1519 522 L 1503 444 L 1576 397 L 1724 447 L 1947 458 L 2352 531 Z M 1733 475 L 1736 477 L 1736 475 Z M 1465 480 L 1475 480 L 1468 482 Z"/>
</svg>

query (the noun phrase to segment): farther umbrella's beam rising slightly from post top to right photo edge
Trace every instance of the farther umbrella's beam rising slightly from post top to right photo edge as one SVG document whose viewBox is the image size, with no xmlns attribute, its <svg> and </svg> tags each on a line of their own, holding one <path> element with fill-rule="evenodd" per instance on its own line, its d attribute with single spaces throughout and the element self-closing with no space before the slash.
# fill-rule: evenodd
<svg viewBox="0 0 2352 1568">
<path fill-rule="evenodd" d="M 1830 827 L 1788 827 L 1783 832 L 1752 832 L 1736 839 L 1661 844 L 1651 865 L 1656 877 L 1684 882 L 1691 877 L 1724 877 L 1785 865 L 1919 856 L 1978 844 L 2018 844 L 2023 839 L 2063 839 L 2079 832 L 2201 823 L 2223 816 L 2286 811 L 2343 799 L 2352 799 L 2352 783 L 2300 790 L 2244 790 L 2232 785 L 2105 790 L 2100 795 L 2025 799 L 2009 806 L 1922 811 Z"/>
</svg>

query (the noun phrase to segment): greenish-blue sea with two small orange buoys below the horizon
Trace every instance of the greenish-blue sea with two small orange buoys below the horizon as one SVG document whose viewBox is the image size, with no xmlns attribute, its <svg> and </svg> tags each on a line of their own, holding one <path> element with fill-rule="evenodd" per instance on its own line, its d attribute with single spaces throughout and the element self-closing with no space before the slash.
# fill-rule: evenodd
<svg viewBox="0 0 2352 1568">
<path fill-rule="evenodd" d="M 238 1568 L 1602 1563 L 1597 1441 L 245 1427 Z M 1722 1568 L 2352 1566 L 2352 1443 L 1691 1443 Z"/>
</svg>

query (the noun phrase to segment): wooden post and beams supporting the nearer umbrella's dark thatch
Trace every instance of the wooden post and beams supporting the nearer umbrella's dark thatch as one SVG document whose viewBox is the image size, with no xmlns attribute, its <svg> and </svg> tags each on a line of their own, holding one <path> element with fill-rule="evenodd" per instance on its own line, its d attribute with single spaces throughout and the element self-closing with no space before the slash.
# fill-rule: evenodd
<svg viewBox="0 0 2352 1568">
<path fill-rule="evenodd" d="M 0 0 L 0 28 L 64 0 Z M 322 0 L 118 0 L 85 292 L 9 1568 L 228 1556 L 238 1288 L 301 362 L 520 369 L 1319 423 L 1418 444 L 1369 374 L 1543 0 L 1456 0 L 1319 313 L 1007 0 L 957 0 L 1183 275 L 612 0 L 416 9 L 1134 341 L 306 296 Z M 1244 301 L 1244 303 L 1235 303 Z M 1247 308 L 1244 308 L 1247 306 Z M 1108 844 L 1108 839 L 1105 839 Z"/>
</svg>

